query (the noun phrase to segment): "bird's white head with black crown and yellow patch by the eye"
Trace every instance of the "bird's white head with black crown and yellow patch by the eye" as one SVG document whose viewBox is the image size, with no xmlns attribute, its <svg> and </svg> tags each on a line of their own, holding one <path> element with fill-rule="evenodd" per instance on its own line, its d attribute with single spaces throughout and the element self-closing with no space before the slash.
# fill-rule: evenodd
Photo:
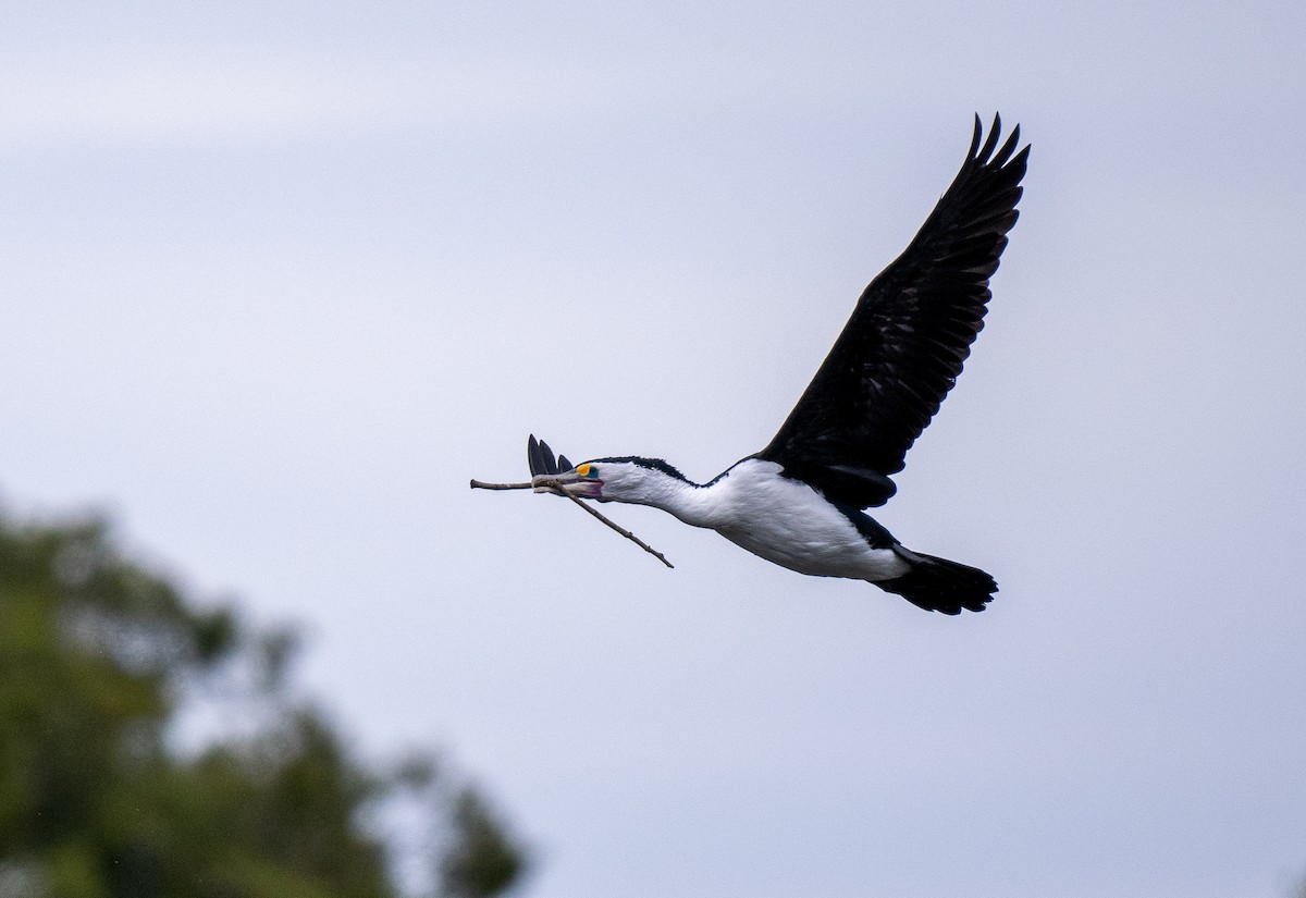
<svg viewBox="0 0 1306 898">
<path fill-rule="evenodd" d="M 535 492 L 565 489 L 580 499 L 601 503 L 648 504 L 666 488 L 667 480 L 687 483 L 684 475 L 661 458 L 594 458 L 572 466 L 567 456 L 554 458 L 547 442 L 530 437 L 526 457 Z"/>
</svg>

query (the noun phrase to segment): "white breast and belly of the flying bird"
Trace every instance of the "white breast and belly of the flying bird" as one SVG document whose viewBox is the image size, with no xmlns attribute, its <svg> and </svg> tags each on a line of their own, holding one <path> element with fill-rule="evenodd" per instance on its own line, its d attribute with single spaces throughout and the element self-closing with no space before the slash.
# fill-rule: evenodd
<svg viewBox="0 0 1306 898">
<path fill-rule="evenodd" d="M 802 574 L 876 581 L 910 569 L 893 550 L 871 548 L 820 493 L 780 471 L 774 462 L 746 459 L 695 489 L 683 509 L 667 510 Z"/>
</svg>

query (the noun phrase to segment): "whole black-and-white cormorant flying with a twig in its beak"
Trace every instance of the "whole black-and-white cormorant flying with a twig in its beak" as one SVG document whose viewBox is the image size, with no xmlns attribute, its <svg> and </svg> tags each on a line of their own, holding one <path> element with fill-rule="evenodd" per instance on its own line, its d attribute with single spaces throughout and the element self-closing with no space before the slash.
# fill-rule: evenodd
<svg viewBox="0 0 1306 898">
<path fill-rule="evenodd" d="M 952 389 L 993 295 L 989 279 L 1016 223 L 1029 158 L 1020 127 L 981 145 L 976 116 L 966 159 L 906 251 L 857 300 L 844 332 L 771 444 L 708 483 L 661 458 L 620 456 L 572 465 L 528 441 L 537 492 L 652 505 L 716 530 L 781 566 L 865 580 L 927 611 L 983 611 L 991 576 L 906 548 L 865 509 L 896 492 L 891 476 Z"/>
</svg>

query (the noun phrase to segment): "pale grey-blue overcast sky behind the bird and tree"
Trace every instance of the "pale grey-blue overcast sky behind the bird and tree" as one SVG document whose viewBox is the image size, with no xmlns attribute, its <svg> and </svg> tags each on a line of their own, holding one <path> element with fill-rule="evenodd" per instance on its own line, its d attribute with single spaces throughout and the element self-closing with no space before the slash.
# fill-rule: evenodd
<svg viewBox="0 0 1306 898">
<path fill-rule="evenodd" d="M 1306 7 L 0 7 L 0 491 L 438 744 L 538 898 L 1306 872 Z M 878 518 L 982 615 L 521 479 L 764 445 L 972 116 L 1033 142 Z"/>
</svg>

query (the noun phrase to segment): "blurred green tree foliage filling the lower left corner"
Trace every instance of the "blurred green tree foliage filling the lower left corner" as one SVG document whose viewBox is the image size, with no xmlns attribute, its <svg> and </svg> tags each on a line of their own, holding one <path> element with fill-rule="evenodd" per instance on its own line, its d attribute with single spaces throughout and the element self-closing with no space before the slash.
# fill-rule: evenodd
<svg viewBox="0 0 1306 898">
<path fill-rule="evenodd" d="M 294 649 L 293 632 L 193 602 L 99 521 L 0 516 L 0 898 L 473 898 L 517 884 L 524 850 L 486 800 L 428 756 L 360 761 L 287 687 Z M 185 751 L 178 720 L 196 707 L 225 726 Z M 388 803 L 422 830 L 406 889 L 392 863 L 405 839 L 377 824 Z"/>
</svg>

